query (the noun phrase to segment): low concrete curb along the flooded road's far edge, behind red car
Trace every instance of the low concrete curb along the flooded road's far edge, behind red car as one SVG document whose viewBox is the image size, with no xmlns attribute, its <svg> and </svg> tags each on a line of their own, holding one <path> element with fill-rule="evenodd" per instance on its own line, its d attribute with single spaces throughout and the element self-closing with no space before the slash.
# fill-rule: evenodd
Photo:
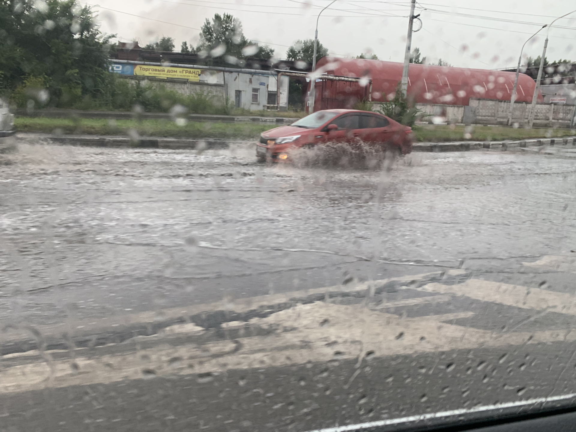
<svg viewBox="0 0 576 432">
<path fill-rule="evenodd" d="M 231 143 L 256 142 L 255 139 L 225 139 L 225 138 L 140 138 L 137 140 L 128 137 L 101 137 L 101 136 L 74 136 L 74 135 L 37 135 L 19 134 L 17 139 L 37 138 L 63 145 L 79 145 L 90 147 L 133 147 L 147 149 L 228 149 Z M 489 142 L 420 142 L 412 146 L 412 151 L 439 153 L 443 151 L 471 151 L 471 150 L 511 150 L 523 147 L 537 146 L 576 146 L 576 137 L 567 138 L 541 138 L 525 139 L 522 141 L 489 141 Z"/>
</svg>

